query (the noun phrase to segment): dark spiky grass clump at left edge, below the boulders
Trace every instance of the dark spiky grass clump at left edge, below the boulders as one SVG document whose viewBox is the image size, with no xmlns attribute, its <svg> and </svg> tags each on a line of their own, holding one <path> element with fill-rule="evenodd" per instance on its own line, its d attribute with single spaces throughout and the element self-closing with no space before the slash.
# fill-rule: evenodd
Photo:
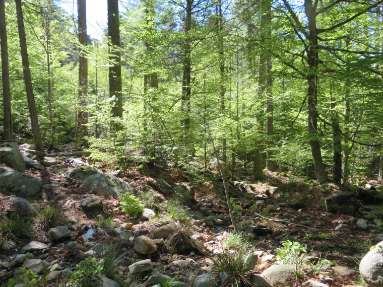
<svg viewBox="0 0 383 287">
<path fill-rule="evenodd" d="M 33 219 L 24 218 L 16 212 L 12 212 L 8 218 L 0 222 L 0 238 L 5 241 L 10 239 L 22 243 L 30 239 L 33 234 Z"/>
</svg>

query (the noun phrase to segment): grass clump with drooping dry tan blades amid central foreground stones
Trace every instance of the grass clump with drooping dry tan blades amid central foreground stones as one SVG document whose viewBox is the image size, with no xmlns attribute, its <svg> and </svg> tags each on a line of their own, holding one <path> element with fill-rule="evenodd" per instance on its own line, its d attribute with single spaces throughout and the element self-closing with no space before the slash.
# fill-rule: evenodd
<svg viewBox="0 0 383 287">
<path fill-rule="evenodd" d="M 169 239 L 168 246 L 174 247 L 174 249 L 180 251 L 185 249 L 197 249 L 204 255 L 208 255 L 208 252 L 199 240 L 192 238 L 192 225 L 189 222 L 181 223 L 174 221 L 172 224 L 173 235 Z"/>
</svg>

